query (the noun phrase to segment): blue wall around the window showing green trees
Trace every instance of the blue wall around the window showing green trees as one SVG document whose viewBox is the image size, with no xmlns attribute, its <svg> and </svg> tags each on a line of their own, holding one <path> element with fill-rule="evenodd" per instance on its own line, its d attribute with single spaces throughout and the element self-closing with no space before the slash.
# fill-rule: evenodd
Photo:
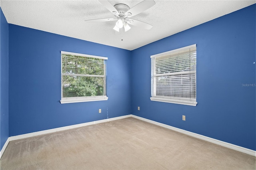
<svg viewBox="0 0 256 170">
<path fill-rule="evenodd" d="M 131 51 L 12 24 L 9 32 L 10 136 L 131 114 Z M 108 101 L 60 104 L 60 51 L 108 57 Z"/>
</svg>

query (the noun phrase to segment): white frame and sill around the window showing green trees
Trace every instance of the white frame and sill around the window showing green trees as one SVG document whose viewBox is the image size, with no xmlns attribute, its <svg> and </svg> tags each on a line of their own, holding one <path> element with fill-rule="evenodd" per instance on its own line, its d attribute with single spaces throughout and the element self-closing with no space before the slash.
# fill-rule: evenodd
<svg viewBox="0 0 256 170">
<path fill-rule="evenodd" d="M 100 96 L 83 96 L 83 97 L 63 97 L 63 87 L 62 87 L 62 76 L 66 73 L 62 73 L 62 54 L 67 54 L 67 55 L 76 55 L 76 56 L 82 56 L 82 57 L 91 57 L 91 58 L 99 58 L 99 59 L 104 59 L 108 60 L 108 57 L 101 57 L 101 56 L 96 56 L 96 55 L 88 55 L 88 54 L 81 54 L 81 53 L 73 53 L 73 52 L 67 52 L 67 51 L 60 51 L 61 53 L 61 100 L 60 103 L 78 103 L 78 102 L 88 102 L 88 101 L 106 101 L 108 100 L 107 95 L 100 95 Z M 104 63 L 104 69 L 106 69 L 106 63 Z M 107 81 L 107 71 L 104 70 L 104 76 L 93 76 L 93 77 L 105 77 L 105 83 Z M 104 85 L 104 94 L 106 94 L 106 85 Z"/>
</svg>

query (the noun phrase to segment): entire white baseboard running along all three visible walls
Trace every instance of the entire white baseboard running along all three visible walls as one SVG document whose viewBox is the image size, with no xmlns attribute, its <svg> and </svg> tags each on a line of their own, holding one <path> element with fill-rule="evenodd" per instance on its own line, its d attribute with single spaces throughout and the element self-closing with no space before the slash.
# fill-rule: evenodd
<svg viewBox="0 0 256 170">
<path fill-rule="evenodd" d="M 72 128 L 84 127 L 84 126 L 94 125 L 94 124 L 98 124 L 98 123 L 104 123 L 104 122 L 108 122 L 108 121 L 115 121 L 115 120 L 118 120 L 118 119 L 124 119 L 124 118 L 128 118 L 128 117 L 133 117 L 133 118 L 136 118 L 136 119 L 139 119 L 139 120 L 142 120 L 142 121 L 146 121 L 148 123 L 152 123 L 154 125 L 158 125 L 160 127 L 168 128 L 170 130 L 174 130 L 174 131 L 177 131 L 177 132 L 180 132 L 180 133 L 183 133 L 183 134 L 195 137 L 195 138 L 206 140 L 208 142 L 212 142 L 214 144 L 218 144 L 218 145 L 224 146 L 226 148 L 230 148 L 230 149 L 233 149 L 233 150 L 237 150 L 239 152 L 243 152 L 243 153 L 246 153 L 246 154 L 249 154 L 249 155 L 252 155 L 252 156 L 256 156 L 256 151 L 255 150 L 251 150 L 251 149 L 248 149 L 248 148 L 244 148 L 244 147 L 241 147 L 241 146 L 230 144 L 228 142 L 223 142 L 221 140 L 217 140 L 217 139 L 214 139 L 214 138 L 203 136 L 201 134 L 196 134 L 196 133 L 193 133 L 193 132 L 189 132 L 187 130 L 183 130 L 183 129 L 180 129 L 180 128 L 165 125 L 163 123 L 158 123 L 156 121 L 151 121 L 149 119 L 145 119 L 145 118 L 138 117 L 138 116 L 135 116 L 135 115 L 125 115 L 125 116 L 114 117 L 114 118 L 110 118 L 110 119 L 103 119 L 103 120 L 99 120 L 99 121 L 92 121 L 92 122 L 88 122 L 88 123 L 70 125 L 70 126 L 66 126 L 66 127 L 53 128 L 53 129 L 49 129 L 49 130 L 42 130 L 42 131 L 32 132 L 32 133 L 27 133 L 27 134 L 20 134 L 20 135 L 17 135 L 17 136 L 10 136 L 6 140 L 2 150 L 0 151 L 0 158 L 2 157 L 2 154 L 4 153 L 4 150 L 6 149 L 9 141 L 12 141 L 12 140 L 29 138 L 29 137 L 38 136 L 38 135 L 41 135 L 41 134 L 48 134 L 48 133 L 52 133 L 52 132 L 58 132 L 58 131 L 62 131 L 62 130 L 72 129 Z"/>
</svg>

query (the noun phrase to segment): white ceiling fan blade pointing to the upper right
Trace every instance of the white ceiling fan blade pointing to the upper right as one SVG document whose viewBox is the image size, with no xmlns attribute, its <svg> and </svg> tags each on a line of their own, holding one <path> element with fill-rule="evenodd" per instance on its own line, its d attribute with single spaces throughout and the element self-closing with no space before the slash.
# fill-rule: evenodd
<svg viewBox="0 0 256 170">
<path fill-rule="evenodd" d="M 156 2 L 154 0 L 144 0 L 137 4 L 136 6 L 132 7 L 130 10 L 128 10 L 125 14 L 127 17 L 132 17 L 137 14 L 140 14 L 141 12 L 147 10 L 148 8 L 154 6 Z M 129 14 L 130 13 L 130 14 Z"/>
</svg>

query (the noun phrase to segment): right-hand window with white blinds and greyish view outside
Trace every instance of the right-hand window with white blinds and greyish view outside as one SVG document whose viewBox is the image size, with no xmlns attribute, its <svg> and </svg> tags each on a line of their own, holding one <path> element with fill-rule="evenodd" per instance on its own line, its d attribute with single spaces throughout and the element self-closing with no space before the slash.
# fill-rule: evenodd
<svg viewBox="0 0 256 170">
<path fill-rule="evenodd" d="M 151 56 L 150 99 L 196 106 L 196 44 Z"/>
</svg>

